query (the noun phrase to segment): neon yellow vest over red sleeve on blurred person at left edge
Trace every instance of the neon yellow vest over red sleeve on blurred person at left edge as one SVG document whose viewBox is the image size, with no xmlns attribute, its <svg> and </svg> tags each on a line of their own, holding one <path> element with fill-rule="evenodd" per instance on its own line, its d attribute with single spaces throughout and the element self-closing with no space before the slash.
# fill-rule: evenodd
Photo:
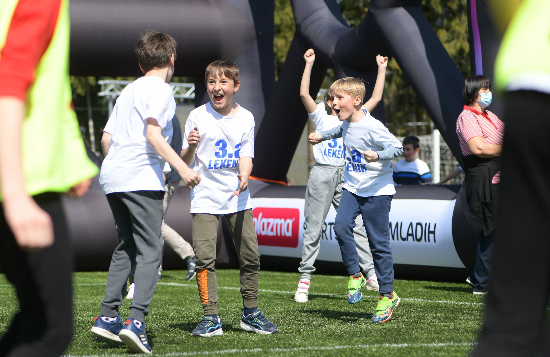
<svg viewBox="0 0 550 357">
<path fill-rule="evenodd" d="M 0 1 L 0 52 L 18 2 Z M 71 108 L 68 0 L 62 0 L 60 6 L 50 45 L 26 93 L 21 149 L 25 190 L 30 195 L 66 192 L 98 172 L 86 154 L 76 113 Z"/>
</svg>

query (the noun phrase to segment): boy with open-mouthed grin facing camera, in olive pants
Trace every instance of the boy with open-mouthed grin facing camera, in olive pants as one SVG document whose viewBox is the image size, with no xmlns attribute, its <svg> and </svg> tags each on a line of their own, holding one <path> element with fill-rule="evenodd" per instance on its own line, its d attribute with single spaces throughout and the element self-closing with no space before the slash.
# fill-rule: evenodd
<svg viewBox="0 0 550 357">
<path fill-rule="evenodd" d="M 271 334 L 277 327 L 257 308 L 260 255 L 252 217 L 248 178 L 254 157 L 254 116 L 232 101 L 239 90 L 239 67 L 218 60 L 206 68 L 210 102 L 191 111 L 181 156 L 202 177 L 191 190 L 193 248 L 204 317 L 192 336 L 223 334 L 216 294 L 216 233 L 223 214 L 240 263 L 243 311 L 240 328 Z"/>
</svg>

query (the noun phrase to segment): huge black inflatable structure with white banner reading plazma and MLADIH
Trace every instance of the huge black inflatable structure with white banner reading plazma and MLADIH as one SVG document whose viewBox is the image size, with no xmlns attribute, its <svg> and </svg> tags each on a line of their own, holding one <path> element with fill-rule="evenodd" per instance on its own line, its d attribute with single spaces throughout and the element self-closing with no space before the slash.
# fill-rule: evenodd
<svg viewBox="0 0 550 357">
<path fill-rule="evenodd" d="M 133 54 L 137 34 L 156 28 L 178 41 L 174 75 L 195 78 L 198 106 L 208 101 L 203 79 L 207 64 L 217 58 L 234 61 L 241 71 L 241 88 L 235 100 L 251 110 L 256 120 L 252 175 L 286 181 L 307 122 L 299 98 L 305 50 L 314 48 L 318 58 L 311 75 L 312 95 L 320 88 L 327 68 L 332 67 L 338 78 L 354 76 L 370 83 L 368 96 L 376 78 L 373 58 L 377 53 L 387 53 L 395 57 L 445 142 L 461 161 L 454 128 L 463 106 L 464 78 L 422 14 L 420 0 L 372 0 L 357 28 L 345 23 L 334 0 L 293 0 L 292 6 L 296 34 L 277 83 L 273 66 L 273 1 L 255 0 L 72 0 L 70 72 L 140 75 Z M 483 73 L 485 69 L 491 78 L 499 39 L 485 0 L 469 0 L 468 12 L 472 72 Z M 498 107 L 496 96 L 492 109 L 497 114 Z M 382 105 L 373 116 L 384 121 Z M 254 181 L 250 191 L 262 263 L 276 262 L 274 268 L 295 270 L 303 238 L 305 187 Z M 466 218 L 463 196 L 459 186 L 397 187 L 390 232 L 398 275 L 463 278 L 469 273 L 479 228 Z M 83 198 L 65 199 L 64 204 L 74 236 L 77 268 L 107 269 L 117 236 L 97 180 Z M 166 220 L 190 241 L 188 213 L 189 192 L 180 188 Z M 329 213 L 323 230 L 318 259 L 324 262 L 341 262 L 332 231 L 333 214 Z M 270 222 L 278 222 L 278 230 L 270 230 Z M 223 220 L 218 231 L 217 262 L 235 266 L 233 242 Z M 338 254 L 334 255 L 334 251 Z M 181 268 L 183 263 L 167 250 L 164 266 Z M 343 264 L 329 263 L 328 267 L 333 272 L 344 272 Z"/>
</svg>

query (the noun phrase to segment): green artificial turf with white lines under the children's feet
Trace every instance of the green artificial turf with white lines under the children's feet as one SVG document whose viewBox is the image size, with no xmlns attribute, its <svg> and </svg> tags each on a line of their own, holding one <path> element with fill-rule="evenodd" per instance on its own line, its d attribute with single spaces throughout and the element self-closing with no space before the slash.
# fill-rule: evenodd
<svg viewBox="0 0 550 357">
<path fill-rule="evenodd" d="M 466 356 L 482 323 L 483 297 L 460 283 L 396 280 L 401 303 L 392 320 L 370 322 L 377 294 L 367 291 L 357 304 L 345 301 L 347 278 L 313 275 L 309 301 L 294 302 L 298 273 L 260 272 L 259 307 L 279 328 L 273 335 L 241 331 L 239 272 L 217 271 L 218 310 L 224 336 L 191 337 L 202 316 L 195 279 L 186 271 L 164 271 L 146 317 L 146 331 L 158 356 Z M 128 356 L 122 344 L 93 336 L 101 309 L 106 272 L 74 274 L 74 336 L 70 356 Z M 0 334 L 18 303 L 0 274 Z M 128 317 L 129 301 L 120 309 Z"/>
</svg>

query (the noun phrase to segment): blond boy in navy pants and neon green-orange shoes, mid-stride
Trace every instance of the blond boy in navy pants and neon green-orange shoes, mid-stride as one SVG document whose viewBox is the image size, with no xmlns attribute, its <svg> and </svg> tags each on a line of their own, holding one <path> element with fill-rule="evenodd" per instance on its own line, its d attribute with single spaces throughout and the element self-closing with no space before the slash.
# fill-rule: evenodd
<svg viewBox="0 0 550 357">
<path fill-rule="evenodd" d="M 355 219 L 363 218 L 374 258 L 380 296 L 372 322 L 386 322 L 399 305 L 393 291 L 393 257 L 389 246 L 389 209 L 395 188 L 391 160 L 403 153 L 401 143 L 370 113 L 361 108 L 365 85 L 353 77 L 338 79 L 329 88 L 332 109 L 343 121 L 329 131 L 311 133 L 310 143 L 342 137 L 346 170 L 342 198 L 334 220 L 334 232 L 342 252 L 342 261 L 350 280 L 364 285 L 359 268 L 359 256 L 353 237 Z M 360 299 L 362 293 L 348 289 L 348 302 Z"/>
</svg>

